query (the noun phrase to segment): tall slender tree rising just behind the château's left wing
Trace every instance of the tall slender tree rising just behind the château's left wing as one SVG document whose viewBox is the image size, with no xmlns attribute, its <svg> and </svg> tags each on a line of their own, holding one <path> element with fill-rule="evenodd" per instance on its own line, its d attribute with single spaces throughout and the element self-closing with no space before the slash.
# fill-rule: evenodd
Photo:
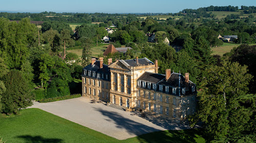
<svg viewBox="0 0 256 143">
<path fill-rule="evenodd" d="M 79 41 L 82 43 L 82 66 L 86 66 L 90 62 L 92 39 L 89 37 L 81 37 Z"/>
</svg>

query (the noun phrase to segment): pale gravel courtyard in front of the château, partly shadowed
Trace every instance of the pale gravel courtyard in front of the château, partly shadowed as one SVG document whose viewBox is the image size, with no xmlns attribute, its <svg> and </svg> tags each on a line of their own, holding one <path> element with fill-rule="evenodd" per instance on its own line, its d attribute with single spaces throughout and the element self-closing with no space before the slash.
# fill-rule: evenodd
<svg viewBox="0 0 256 143">
<path fill-rule="evenodd" d="M 102 103 L 90 103 L 84 97 L 39 103 L 29 108 L 39 108 L 82 126 L 96 130 L 117 139 L 126 139 L 141 134 L 188 128 L 173 122 L 145 120 Z M 151 122 L 150 122 L 151 121 Z"/>
</svg>

